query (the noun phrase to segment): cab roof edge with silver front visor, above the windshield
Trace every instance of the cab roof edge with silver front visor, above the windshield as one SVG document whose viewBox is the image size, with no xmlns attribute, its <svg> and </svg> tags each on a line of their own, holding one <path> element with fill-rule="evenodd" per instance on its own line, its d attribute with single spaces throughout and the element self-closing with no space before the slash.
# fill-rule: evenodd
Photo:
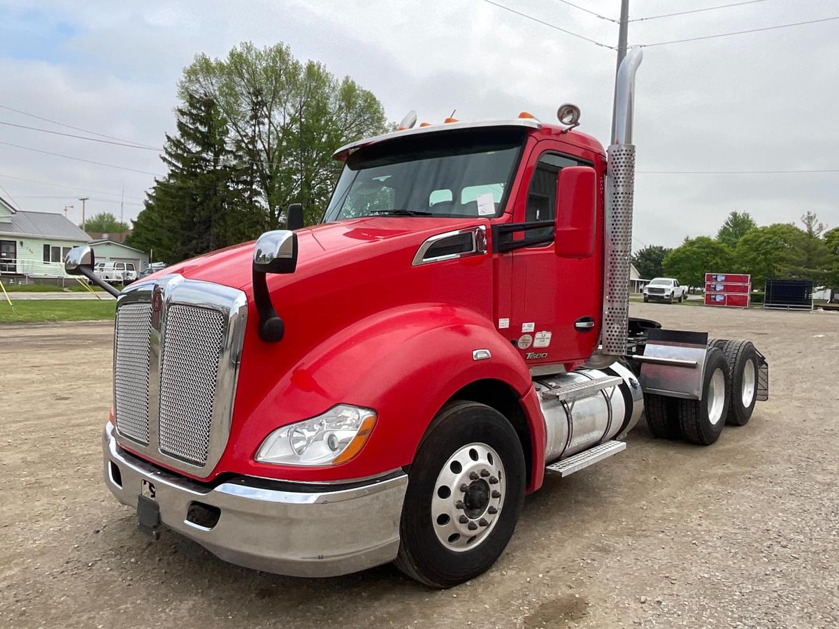
<svg viewBox="0 0 839 629">
<path fill-rule="evenodd" d="M 414 127 L 411 129 L 404 129 L 402 131 L 393 131 L 391 133 L 383 133 L 382 135 L 374 136 L 373 138 L 364 138 L 357 142 L 346 144 L 336 150 L 332 154 L 335 159 L 346 161 L 347 158 L 355 153 L 359 148 L 370 146 L 371 144 L 378 144 L 388 142 L 395 138 L 405 138 L 409 136 L 416 136 L 423 133 L 447 133 L 451 131 L 462 131 L 464 129 L 481 129 L 481 128 L 510 128 L 510 127 L 524 127 L 528 133 L 538 136 L 539 139 L 552 138 L 562 136 L 565 142 L 575 144 L 580 148 L 586 148 L 597 153 L 605 154 L 603 146 L 592 138 L 587 133 L 581 133 L 573 129 L 569 130 L 565 127 L 560 127 L 554 124 L 545 124 L 536 118 L 511 118 L 509 120 L 483 120 L 477 122 L 442 122 L 440 124 L 430 124 L 425 127 Z"/>
</svg>

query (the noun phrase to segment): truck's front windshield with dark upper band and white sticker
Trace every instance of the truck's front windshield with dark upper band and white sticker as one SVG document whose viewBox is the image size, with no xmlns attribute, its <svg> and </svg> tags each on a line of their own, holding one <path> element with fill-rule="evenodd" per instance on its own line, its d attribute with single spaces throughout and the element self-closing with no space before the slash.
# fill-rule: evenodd
<svg viewBox="0 0 839 629">
<path fill-rule="evenodd" d="M 435 137 L 439 136 L 439 137 Z M 359 216 L 498 216 L 524 133 L 439 133 L 353 153 L 324 221 Z"/>
</svg>

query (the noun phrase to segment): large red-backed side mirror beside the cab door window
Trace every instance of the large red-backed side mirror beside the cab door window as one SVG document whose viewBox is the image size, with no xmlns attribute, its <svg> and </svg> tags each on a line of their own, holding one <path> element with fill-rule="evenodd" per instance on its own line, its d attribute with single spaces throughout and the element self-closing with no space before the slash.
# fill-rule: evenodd
<svg viewBox="0 0 839 629">
<path fill-rule="evenodd" d="M 597 173 L 591 166 L 560 170 L 554 250 L 559 257 L 590 257 L 597 229 Z"/>
</svg>

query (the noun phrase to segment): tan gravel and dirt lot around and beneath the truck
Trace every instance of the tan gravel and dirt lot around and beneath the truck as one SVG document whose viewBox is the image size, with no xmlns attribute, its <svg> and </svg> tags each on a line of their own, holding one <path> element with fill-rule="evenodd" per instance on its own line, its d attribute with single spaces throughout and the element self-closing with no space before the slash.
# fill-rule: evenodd
<svg viewBox="0 0 839 629">
<path fill-rule="evenodd" d="M 0 326 L 0 626 L 837 626 L 839 314 L 633 304 L 750 337 L 770 400 L 709 448 L 653 439 L 545 486 L 489 573 L 240 569 L 139 533 L 102 484 L 109 324 Z"/>
</svg>

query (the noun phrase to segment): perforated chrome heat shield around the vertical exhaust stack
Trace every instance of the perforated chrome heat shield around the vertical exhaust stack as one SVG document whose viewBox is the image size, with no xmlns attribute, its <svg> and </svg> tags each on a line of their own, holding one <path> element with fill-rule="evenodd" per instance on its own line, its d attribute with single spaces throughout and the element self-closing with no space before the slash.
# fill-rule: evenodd
<svg viewBox="0 0 839 629">
<path fill-rule="evenodd" d="M 612 144 L 607 150 L 607 159 L 602 353 L 623 356 L 627 349 L 629 322 L 635 146 Z"/>
</svg>

